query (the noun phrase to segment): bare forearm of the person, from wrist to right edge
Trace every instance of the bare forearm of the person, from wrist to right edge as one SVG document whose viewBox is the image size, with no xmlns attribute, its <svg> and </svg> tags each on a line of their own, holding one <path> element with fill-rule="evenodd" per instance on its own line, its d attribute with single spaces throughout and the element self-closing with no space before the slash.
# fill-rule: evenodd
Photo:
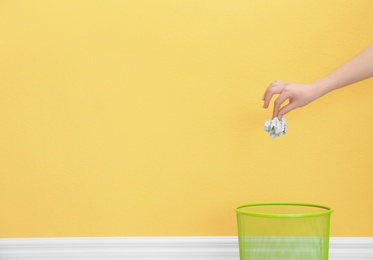
<svg viewBox="0 0 373 260">
<path fill-rule="evenodd" d="M 373 77 L 373 45 L 324 78 L 315 81 L 320 96 L 358 81 Z"/>
</svg>

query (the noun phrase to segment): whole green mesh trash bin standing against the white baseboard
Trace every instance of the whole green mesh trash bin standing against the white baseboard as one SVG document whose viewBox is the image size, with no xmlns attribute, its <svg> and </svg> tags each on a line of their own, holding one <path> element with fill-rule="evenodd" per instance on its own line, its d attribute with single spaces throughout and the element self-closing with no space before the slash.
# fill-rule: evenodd
<svg viewBox="0 0 373 260">
<path fill-rule="evenodd" d="M 293 202 L 236 207 L 241 260 L 327 260 L 331 208 Z"/>
</svg>

